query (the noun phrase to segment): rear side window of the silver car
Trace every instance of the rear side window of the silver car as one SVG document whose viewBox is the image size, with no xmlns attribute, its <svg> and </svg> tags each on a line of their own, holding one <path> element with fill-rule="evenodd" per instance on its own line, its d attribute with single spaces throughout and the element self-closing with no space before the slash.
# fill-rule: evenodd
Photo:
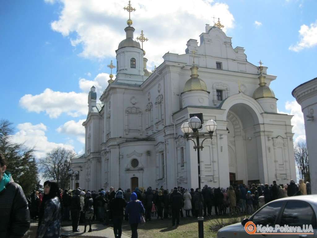
<svg viewBox="0 0 317 238">
<path fill-rule="evenodd" d="M 281 217 L 281 226 L 303 226 L 313 225 L 316 228 L 316 215 L 307 202 L 287 202 Z"/>
</svg>

